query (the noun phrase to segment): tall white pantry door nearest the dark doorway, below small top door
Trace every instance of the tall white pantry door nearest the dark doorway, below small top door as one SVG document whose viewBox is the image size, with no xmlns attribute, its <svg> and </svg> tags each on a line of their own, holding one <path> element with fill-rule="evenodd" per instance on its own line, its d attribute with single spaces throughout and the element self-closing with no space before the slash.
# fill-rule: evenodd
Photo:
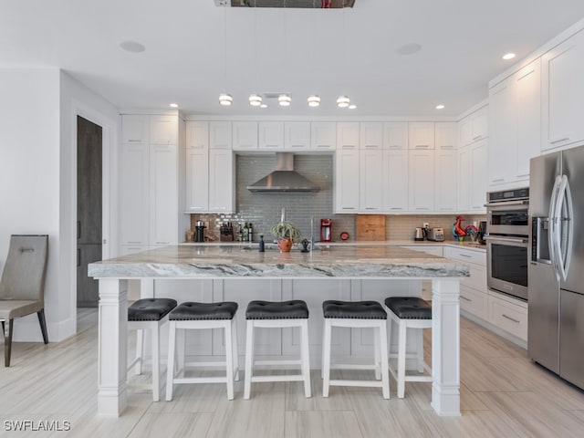
<svg viewBox="0 0 584 438">
<path fill-rule="evenodd" d="M 120 245 L 148 245 L 147 144 L 124 144 L 120 153 Z"/>
</svg>

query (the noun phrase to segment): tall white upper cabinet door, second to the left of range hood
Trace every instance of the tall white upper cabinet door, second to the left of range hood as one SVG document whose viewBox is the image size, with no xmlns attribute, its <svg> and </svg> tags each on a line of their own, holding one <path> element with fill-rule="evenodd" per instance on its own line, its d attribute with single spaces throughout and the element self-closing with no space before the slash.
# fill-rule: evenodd
<svg viewBox="0 0 584 438">
<path fill-rule="evenodd" d="M 209 150 L 186 150 L 185 209 L 187 212 L 209 211 Z"/>
</svg>

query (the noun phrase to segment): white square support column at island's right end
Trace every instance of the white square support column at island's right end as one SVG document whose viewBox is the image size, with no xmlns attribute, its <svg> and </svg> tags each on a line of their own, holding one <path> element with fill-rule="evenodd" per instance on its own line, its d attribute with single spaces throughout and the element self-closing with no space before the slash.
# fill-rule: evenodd
<svg viewBox="0 0 584 438">
<path fill-rule="evenodd" d="M 459 280 L 432 282 L 432 407 L 438 415 L 460 415 Z"/>
</svg>

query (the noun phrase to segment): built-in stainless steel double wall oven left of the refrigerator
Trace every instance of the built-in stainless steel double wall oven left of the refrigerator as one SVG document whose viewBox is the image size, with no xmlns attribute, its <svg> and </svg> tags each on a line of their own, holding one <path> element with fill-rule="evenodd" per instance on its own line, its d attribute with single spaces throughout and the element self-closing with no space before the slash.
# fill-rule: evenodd
<svg viewBox="0 0 584 438">
<path fill-rule="evenodd" d="M 487 193 L 486 286 L 527 300 L 529 189 Z"/>
</svg>

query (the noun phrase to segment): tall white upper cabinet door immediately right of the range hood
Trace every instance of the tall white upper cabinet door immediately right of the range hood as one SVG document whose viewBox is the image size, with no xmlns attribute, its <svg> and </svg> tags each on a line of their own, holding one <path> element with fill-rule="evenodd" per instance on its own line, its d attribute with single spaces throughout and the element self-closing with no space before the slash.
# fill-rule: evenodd
<svg viewBox="0 0 584 438">
<path fill-rule="evenodd" d="M 335 154 L 335 212 L 359 212 L 359 151 L 340 150 Z"/>
</svg>

